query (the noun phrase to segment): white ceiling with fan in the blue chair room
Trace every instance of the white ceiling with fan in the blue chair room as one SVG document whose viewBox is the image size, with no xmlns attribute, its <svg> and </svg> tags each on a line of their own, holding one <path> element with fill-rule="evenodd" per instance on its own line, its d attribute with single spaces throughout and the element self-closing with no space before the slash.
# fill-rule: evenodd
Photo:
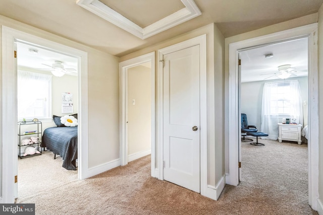
<svg viewBox="0 0 323 215">
<path fill-rule="evenodd" d="M 265 58 L 266 54 L 274 56 Z M 290 64 L 294 77 L 308 76 L 308 39 L 255 47 L 241 52 L 241 82 L 280 79 L 278 66 Z"/>
</svg>

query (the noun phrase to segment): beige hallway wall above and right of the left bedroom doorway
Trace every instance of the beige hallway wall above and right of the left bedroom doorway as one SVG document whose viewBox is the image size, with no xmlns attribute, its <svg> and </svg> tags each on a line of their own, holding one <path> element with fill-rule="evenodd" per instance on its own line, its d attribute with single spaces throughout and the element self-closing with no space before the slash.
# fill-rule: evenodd
<svg viewBox="0 0 323 215">
<path fill-rule="evenodd" d="M 0 25 L 88 53 L 88 166 L 91 168 L 119 159 L 118 57 L 4 16 L 0 16 Z"/>
</svg>

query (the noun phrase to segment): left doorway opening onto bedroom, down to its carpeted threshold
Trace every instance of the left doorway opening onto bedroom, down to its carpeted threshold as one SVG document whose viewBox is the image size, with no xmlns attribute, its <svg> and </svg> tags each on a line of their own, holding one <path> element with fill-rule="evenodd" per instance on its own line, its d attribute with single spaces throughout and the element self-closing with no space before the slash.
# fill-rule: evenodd
<svg viewBox="0 0 323 215">
<path fill-rule="evenodd" d="M 18 142 L 18 198 L 24 198 L 30 193 L 39 192 L 46 189 L 47 185 L 57 185 L 60 183 L 69 182 L 78 177 L 78 159 L 71 161 L 60 157 L 60 155 L 53 154 L 52 148 L 46 150 L 44 147 L 44 140 L 42 134 L 45 129 L 64 129 L 63 125 L 58 124 L 55 118 L 61 118 L 65 115 L 78 116 L 78 59 L 57 50 L 49 50 L 46 47 L 40 47 L 36 44 L 28 42 L 16 41 L 17 44 L 17 109 L 18 121 L 25 119 L 27 126 L 19 127 L 20 140 L 28 140 L 31 138 L 38 138 L 40 145 L 23 145 Z M 57 68 L 57 67 L 59 68 Z M 69 96 L 69 102 L 63 102 L 63 95 Z M 32 119 L 38 121 L 37 134 L 22 134 L 26 129 L 32 129 L 30 124 Z M 69 129 L 68 127 L 66 127 Z M 77 127 L 74 128 L 77 132 Z M 76 134 L 76 133 L 75 133 Z M 53 139 L 52 142 L 56 140 Z M 27 148 L 28 147 L 28 148 Z M 28 158 L 26 149 L 36 149 L 35 155 L 40 157 Z M 63 148 L 57 149 L 59 151 Z M 74 150 L 72 150 L 74 151 Z M 74 151 L 66 152 L 66 154 L 73 155 L 77 152 L 77 146 Z M 33 153 L 33 152 L 32 152 Z M 58 153 L 58 152 L 56 152 Z M 48 160 L 50 158 L 50 160 Z M 37 161 L 36 161 L 37 160 Z M 65 160 L 65 161 L 63 161 Z M 72 159 L 71 159 L 72 160 Z M 62 165 L 62 163 L 68 165 Z M 75 164 L 74 164 L 75 162 Z M 41 166 L 37 167 L 36 163 Z M 73 163 L 73 164 L 72 164 Z M 33 165 L 32 165 L 33 164 Z M 64 167 L 69 169 L 69 177 L 63 177 L 66 173 Z M 45 168 L 47 167 L 47 168 Z M 72 170 L 72 168 L 76 168 Z M 42 171 L 39 171 L 42 169 Z M 50 172 L 55 171 L 54 175 Z M 38 177 L 34 177 L 37 172 Z M 59 178 L 57 178 L 59 176 Z M 46 181 L 44 186 L 39 186 Z M 32 182 L 32 183 L 30 183 Z"/>
</svg>

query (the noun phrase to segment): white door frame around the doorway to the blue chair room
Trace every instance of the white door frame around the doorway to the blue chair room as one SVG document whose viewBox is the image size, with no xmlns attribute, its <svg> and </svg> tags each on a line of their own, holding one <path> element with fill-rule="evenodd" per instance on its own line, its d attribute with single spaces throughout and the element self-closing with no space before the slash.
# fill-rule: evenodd
<svg viewBox="0 0 323 215">
<path fill-rule="evenodd" d="M 317 23 L 268 34 L 229 44 L 229 129 L 226 132 L 226 146 L 229 151 L 229 173 L 227 184 L 239 184 L 238 145 L 239 142 L 239 74 L 238 54 L 242 49 L 259 45 L 279 43 L 294 38 L 308 37 L 308 202 L 316 210 L 318 199 L 318 67 L 317 67 Z"/>
</svg>

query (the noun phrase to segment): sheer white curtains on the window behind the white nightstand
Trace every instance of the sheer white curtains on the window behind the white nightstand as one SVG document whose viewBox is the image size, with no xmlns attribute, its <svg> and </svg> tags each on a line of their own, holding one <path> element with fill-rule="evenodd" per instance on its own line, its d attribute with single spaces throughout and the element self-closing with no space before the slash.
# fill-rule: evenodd
<svg viewBox="0 0 323 215">
<path fill-rule="evenodd" d="M 267 133 L 268 136 L 261 138 L 278 139 L 278 123 L 282 118 L 303 123 L 298 80 L 265 83 L 263 86 L 260 132 Z"/>
</svg>

